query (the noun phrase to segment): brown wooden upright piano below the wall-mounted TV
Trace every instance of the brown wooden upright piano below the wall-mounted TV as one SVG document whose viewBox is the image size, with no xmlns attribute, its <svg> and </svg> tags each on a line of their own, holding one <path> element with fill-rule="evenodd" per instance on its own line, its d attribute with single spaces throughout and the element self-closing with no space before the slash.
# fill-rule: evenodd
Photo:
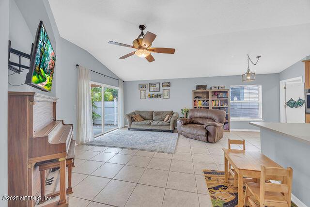
<svg viewBox="0 0 310 207">
<path fill-rule="evenodd" d="M 57 98 L 31 92 L 8 92 L 8 195 L 39 196 L 40 172 L 36 163 L 58 160 L 60 200 L 51 206 L 68 206 L 65 194 L 66 157 L 72 125 L 56 120 Z M 72 145 L 72 144 L 71 144 Z M 33 207 L 38 200 L 9 201 L 9 207 Z"/>
</svg>

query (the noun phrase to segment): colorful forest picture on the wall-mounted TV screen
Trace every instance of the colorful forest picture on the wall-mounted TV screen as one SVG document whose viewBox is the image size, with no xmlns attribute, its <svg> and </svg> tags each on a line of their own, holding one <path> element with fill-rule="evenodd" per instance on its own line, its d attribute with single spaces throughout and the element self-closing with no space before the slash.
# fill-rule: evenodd
<svg viewBox="0 0 310 207">
<path fill-rule="evenodd" d="M 43 25 L 40 29 L 32 82 L 48 91 L 52 88 L 56 56 Z"/>
</svg>

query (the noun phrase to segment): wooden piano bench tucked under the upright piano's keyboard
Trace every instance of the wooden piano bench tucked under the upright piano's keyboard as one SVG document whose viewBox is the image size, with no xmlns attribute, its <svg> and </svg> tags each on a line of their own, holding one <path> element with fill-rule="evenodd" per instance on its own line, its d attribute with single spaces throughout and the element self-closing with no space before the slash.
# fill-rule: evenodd
<svg viewBox="0 0 310 207">
<path fill-rule="evenodd" d="M 68 188 L 66 189 L 66 194 L 73 193 L 72 191 L 72 185 L 71 185 L 71 179 L 72 179 L 72 167 L 74 166 L 74 157 L 70 157 L 66 159 L 66 167 L 68 167 Z M 60 191 L 55 191 L 52 193 L 49 193 L 45 196 L 45 171 L 52 169 L 52 168 L 58 168 L 60 167 L 60 162 L 56 159 L 49 160 L 48 162 L 38 162 L 37 166 L 39 166 L 40 171 L 40 182 L 41 182 L 41 197 L 56 197 L 60 195 Z M 39 204 L 42 204 L 45 202 L 45 199 L 41 200 Z"/>
</svg>

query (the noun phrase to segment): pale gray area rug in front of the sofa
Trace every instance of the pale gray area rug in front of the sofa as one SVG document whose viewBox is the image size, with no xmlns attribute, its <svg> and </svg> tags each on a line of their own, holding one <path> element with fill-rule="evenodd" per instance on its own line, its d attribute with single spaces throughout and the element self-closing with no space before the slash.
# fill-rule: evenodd
<svg viewBox="0 0 310 207">
<path fill-rule="evenodd" d="M 178 135 L 171 132 L 117 129 L 86 144 L 174 153 Z"/>
</svg>

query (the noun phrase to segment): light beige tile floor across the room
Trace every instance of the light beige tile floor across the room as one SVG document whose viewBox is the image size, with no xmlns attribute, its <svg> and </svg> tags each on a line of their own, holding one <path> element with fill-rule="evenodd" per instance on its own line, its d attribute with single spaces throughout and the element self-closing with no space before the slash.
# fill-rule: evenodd
<svg viewBox="0 0 310 207">
<path fill-rule="evenodd" d="M 229 138 L 260 151 L 260 133 L 240 131 L 225 132 L 217 143 L 180 135 L 174 154 L 78 145 L 69 206 L 211 207 L 202 169 L 224 169 Z"/>
</svg>

